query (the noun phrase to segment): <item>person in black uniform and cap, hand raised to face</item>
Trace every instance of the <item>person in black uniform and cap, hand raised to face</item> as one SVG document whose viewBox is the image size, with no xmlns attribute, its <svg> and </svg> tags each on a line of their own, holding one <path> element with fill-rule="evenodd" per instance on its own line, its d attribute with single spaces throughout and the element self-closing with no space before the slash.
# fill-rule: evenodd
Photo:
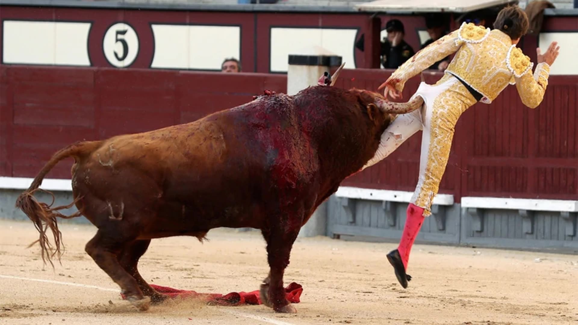
<svg viewBox="0 0 578 325">
<path fill-rule="evenodd" d="M 397 69 L 415 52 L 403 40 L 405 30 L 401 21 L 392 19 L 386 24 L 387 39 L 381 42 L 381 65 L 386 69 Z"/>
</svg>

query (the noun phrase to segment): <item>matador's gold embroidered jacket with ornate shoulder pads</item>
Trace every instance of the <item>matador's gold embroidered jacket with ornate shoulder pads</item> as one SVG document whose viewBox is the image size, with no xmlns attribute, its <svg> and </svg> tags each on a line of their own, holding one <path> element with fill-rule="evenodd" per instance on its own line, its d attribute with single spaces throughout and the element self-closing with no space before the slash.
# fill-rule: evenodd
<svg viewBox="0 0 578 325">
<path fill-rule="evenodd" d="M 446 73 L 460 78 L 483 95 L 481 102 L 490 104 L 508 84 L 516 84 L 524 105 L 535 108 L 542 102 L 548 85 L 550 66 L 536 66 L 528 56 L 512 45 L 510 36 L 499 29 L 463 23 L 450 34 L 431 43 L 402 64 L 390 79 L 398 91 L 405 82 L 438 60 L 455 53 Z"/>
</svg>

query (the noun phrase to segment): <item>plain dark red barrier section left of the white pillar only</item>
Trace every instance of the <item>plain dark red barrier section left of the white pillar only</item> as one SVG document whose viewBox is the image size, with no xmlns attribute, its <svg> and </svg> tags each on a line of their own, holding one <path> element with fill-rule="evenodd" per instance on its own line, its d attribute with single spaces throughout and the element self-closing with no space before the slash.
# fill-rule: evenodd
<svg viewBox="0 0 578 325">
<path fill-rule="evenodd" d="M 262 94 L 285 75 L 0 65 L 0 175 L 34 177 L 58 149 L 197 120 Z M 70 178 L 72 160 L 47 177 Z"/>
</svg>

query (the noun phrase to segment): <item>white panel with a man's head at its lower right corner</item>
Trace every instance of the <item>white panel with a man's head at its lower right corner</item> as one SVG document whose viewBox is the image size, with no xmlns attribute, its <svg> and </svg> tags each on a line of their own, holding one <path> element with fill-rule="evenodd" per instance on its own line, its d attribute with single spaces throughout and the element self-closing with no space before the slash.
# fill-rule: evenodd
<svg viewBox="0 0 578 325">
<path fill-rule="evenodd" d="M 240 27 L 153 24 L 151 68 L 220 70 L 225 58 L 240 59 Z"/>
</svg>

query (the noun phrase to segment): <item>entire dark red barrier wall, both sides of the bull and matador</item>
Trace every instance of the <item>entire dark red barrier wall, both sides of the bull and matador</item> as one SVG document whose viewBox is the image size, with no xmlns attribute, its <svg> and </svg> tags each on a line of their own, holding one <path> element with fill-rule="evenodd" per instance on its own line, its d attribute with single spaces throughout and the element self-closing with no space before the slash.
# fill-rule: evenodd
<svg viewBox="0 0 578 325">
<path fill-rule="evenodd" d="M 338 87 L 376 90 L 390 72 L 343 71 Z M 428 82 L 438 73 L 425 73 Z M 419 79 L 406 84 L 404 98 Z M 286 75 L 0 65 L 0 175 L 36 175 L 56 150 L 198 119 L 243 104 Z M 492 105 L 462 115 L 440 193 L 578 200 L 578 76 L 553 76 L 536 109 L 509 86 Z M 421 132 L 344 185 L 413 191 Z M 72 161 L 49 178 L 69 178 Z"/>
</svg>

